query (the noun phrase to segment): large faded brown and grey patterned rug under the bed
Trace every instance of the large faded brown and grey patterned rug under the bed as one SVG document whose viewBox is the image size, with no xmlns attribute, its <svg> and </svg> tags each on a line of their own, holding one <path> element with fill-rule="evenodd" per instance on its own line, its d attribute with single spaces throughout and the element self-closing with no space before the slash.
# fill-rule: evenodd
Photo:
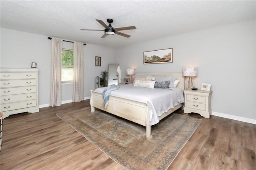
<svg viewBox="0 0 256 170">
<path fill-rule="evenodd" d="M 96 109 L 57 114 L 127 170 L 166 170 L 202 120 L 173 113 L 146 127 Z"/>
</svg>

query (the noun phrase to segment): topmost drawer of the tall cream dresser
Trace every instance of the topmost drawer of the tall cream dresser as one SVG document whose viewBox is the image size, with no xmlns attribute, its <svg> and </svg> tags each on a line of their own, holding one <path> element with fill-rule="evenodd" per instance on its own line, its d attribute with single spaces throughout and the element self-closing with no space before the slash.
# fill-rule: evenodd
<svg viewBox="0 0 256 170">
<path fill-rule="evenodd" d="M 36 72 L 0 73 L 0 79 L 36 79 Z"/>
</svg>

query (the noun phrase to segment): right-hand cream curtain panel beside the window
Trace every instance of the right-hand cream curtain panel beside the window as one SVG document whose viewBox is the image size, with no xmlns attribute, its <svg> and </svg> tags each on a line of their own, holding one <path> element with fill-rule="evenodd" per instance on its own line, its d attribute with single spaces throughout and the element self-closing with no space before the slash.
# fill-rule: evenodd
<svg viewBox="0 0 256 170">
<path fill-rule="evenodd" d="M 84 100 L 84 44 L 74 42 L 74 80 L 72 102 Z"/>
</svg>

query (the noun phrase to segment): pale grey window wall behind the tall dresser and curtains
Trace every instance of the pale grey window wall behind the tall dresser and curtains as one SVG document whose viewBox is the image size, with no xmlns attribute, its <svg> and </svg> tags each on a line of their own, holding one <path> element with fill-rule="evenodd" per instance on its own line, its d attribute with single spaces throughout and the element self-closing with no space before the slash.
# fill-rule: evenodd
<svg viewBox="0 0 256 170">
<path fill-rule="evenodd" d="M 85 40 L 86 41 L 86 40 Z M 64 42 L 65 43 L 65 42 Z M 95 56 L 102 57 L 102 66 L 95 66 Z M 95 88 L 95 77 L 108 70 L 113 63 L 112 48 L 87 44 L 84 46 L 84 97 L 90 98 L 90 90 Z M 39 106 L 50 103 L 51 40 L 47 36 L 30 34 L 1 28 L 0 67 L 30 68 L 36 62 L 38 72 Z M 62 85 L 62 101 L 72 100 L 72 84 Z"/>
</svg>

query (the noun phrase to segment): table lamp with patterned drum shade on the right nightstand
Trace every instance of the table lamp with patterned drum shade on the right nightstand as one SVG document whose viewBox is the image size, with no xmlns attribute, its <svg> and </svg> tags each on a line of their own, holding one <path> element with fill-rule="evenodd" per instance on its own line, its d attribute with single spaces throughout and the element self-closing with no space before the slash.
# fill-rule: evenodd
<svg viewBox="0 0 256 170">
<path fill-rule="evenodd" d="M 182 73 L 184 77 L 187 77 L 186 89 L 194 88 L 194 82 L 192 77 L 197 76 L 197 67 L 183 67 Z"/>
</svg>

